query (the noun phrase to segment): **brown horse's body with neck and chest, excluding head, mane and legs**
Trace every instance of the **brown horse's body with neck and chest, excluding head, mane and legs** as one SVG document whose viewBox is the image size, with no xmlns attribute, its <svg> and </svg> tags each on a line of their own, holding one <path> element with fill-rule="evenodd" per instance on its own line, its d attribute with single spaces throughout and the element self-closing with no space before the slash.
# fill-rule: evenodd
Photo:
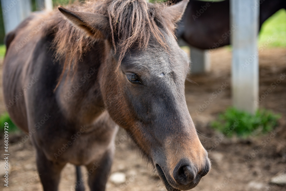
<svg viewBox="0 0 286 191">
<path fill-rule="evenodd" d="M 57 15 L 60 16 L 60 13 Z M 5 60 L 9 60 L 9 64 L 4 65 L 4 71 L 7 72 L 3 73 L 6 82 L 4 89 L 9 90 L 5 93 L 5 100 L 11 100 L 19 92 L 23 92 L 23 96 L 15 105 L 7 108 L 11 118 L 27 133 L 36 130 L 31 136 L 32 141 L 49 160 L 75 165 L 96 161 L 93 153 L 102 155 L 100 153 L 106 150 L 117 132 L 117 126 L 108 112 L 100 110 L 104 108 L 104 102 L 98 73 L 102 72 L 100 60 L 104 55 L 104 44 L 95 44 L 84 57 L 83 62 L 92 64 L 79 65 L 78 75 L 65 76 L 67 79 L 62 80 L 59 88 L 53 92 L 62 71 L 59 61 L 53 59 L 53 37 L 36 33 L 25 47 L 18 49 L 17 43 L 29 36 L 31 30 L 29 26 L 20 26 L 15 31 L 15 38 L 10 44 L 13 48 L 9 49 L 5 57 Z M 87 74 L 90 74 L 89 78 Z M 32 83 L 31 87 L 28 87 L 29 83 Z M 75 92 L 69 95 L 71 90 Z M 43 119 L 44 124 L 41 123 Z M 78 132 L 81 135 L 75 136 Z M 69 141 L 72 145 L 61 156 L 55 157 L 54 154 L 58 154 L 63 144 Z"/>
</svg>

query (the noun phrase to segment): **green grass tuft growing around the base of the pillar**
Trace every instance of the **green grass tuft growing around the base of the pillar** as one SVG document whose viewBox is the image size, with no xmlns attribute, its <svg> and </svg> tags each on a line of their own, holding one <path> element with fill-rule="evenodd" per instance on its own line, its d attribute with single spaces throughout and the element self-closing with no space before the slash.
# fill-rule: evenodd
<svg viewBox="0 0 286 191">
<path fill-rule="evenodd" d="M 218 119 L 211 123 L 211 127 L 224 135 L 231 137 L 236 134 L 239 137 L 265 134 L 278 125 L 277 120 L 281 116 L 262 109 L 253 115 L 248 112 L 228 108 Z"/>
</svg>

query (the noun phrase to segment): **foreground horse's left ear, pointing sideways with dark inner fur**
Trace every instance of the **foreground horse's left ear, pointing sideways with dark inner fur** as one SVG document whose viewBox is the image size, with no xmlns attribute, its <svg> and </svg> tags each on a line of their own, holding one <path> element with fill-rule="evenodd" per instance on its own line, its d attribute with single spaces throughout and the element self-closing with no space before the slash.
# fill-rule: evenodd
<svg viewBox="0 0 286 191">
<path fill-rule="evenodd" d="M 97 39 L 107 39 L 110 37 L 111 29 L 108 17 L 99 13 L 71 11 L 61 6 L 58 9 L 67 20 L 74 26 L 82 29 L 87 35 Z"/>
</svg>

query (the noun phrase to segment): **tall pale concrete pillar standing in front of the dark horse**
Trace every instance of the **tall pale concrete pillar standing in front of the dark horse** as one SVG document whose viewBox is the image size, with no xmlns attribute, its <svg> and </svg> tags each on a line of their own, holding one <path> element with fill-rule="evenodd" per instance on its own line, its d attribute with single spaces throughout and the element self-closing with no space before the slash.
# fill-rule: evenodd
<svg viewBox="0 0 286 191">
<path fill-rule="evenodd" d="M 259 0 L 231 0 L 230 7 L 231 26 L 237 27 L 231 35 L 233 105 L 254 113 L 259 89 Z"/>
</svg>

